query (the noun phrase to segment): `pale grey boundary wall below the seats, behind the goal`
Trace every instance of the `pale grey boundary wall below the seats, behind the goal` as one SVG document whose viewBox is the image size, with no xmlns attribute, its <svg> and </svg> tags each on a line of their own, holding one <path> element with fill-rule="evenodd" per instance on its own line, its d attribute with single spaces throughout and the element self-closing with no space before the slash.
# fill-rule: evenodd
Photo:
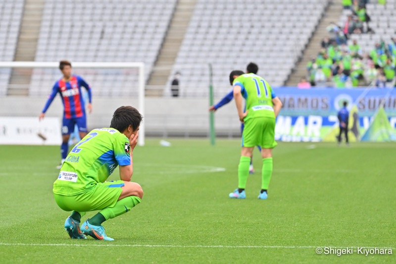
<svg viewBox="0 0 396 264">
<path fill-rule="evenodd" d="M 218 102 L 220 98 L 216 98 Z M 39 118 L 46 103 L 46 97 L 0 97 L 0 116 L 26 116 Z M 137 98 L 99 98 L 93 94 L 92 113 L 88 113 L 88 129 L 108 127 L 112 114 L 119 106 L 138 106 Z M 145 98 L 143 120 L 147 135 L 155 136 L 208 136 L 209 133 L 208 99 L 185 98 Z M 63 106 L 56 96 L 46 117 L 62 120 Z M 215 113 L 217 134 L 239 136 L 240 121 L 235 102 L 221 107 Z M 60 135 L 60 130 L 59 130 Z"/>
</svg>

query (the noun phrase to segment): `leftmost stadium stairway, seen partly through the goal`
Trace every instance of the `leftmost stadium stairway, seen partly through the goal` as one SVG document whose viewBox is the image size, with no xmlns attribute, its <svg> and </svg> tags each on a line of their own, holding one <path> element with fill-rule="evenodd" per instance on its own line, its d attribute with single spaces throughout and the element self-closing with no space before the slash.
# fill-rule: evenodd
<svg viewBox="0 0 396 264">
<path fill-rule="evenodd" d="M 45 0 L 25 0 L 15 61 L 34 61 Z M 7 95 L 26 96 L 32 69 L 12 69 Z"/>
</svg>

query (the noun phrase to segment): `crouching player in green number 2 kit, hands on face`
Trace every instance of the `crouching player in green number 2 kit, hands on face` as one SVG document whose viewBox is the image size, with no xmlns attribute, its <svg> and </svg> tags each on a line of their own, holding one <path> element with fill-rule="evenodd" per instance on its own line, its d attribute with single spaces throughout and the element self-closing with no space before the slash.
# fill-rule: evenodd
<svg viewBox="0 0 396 264">
<path fill-rule="evenodd" d="M 56 204 L 72 211 L 64 228 L 71 238 L 114 240 L 104 233 L 102 222 L 114 218 L 141 202 L 142 187 L 130 182 L 132 152 L 137 144 L 142 115 L 132 106 L 115 110 L 110 128 L 98 128 L 85 136 L 69 153 L 53 183 Z M 120 179 L 106 179 L 120 165 Z M 100 210 L 85 221 L 87 211 Z M 84 235 L 85 234 L 85 235 Z"/>
</svg>

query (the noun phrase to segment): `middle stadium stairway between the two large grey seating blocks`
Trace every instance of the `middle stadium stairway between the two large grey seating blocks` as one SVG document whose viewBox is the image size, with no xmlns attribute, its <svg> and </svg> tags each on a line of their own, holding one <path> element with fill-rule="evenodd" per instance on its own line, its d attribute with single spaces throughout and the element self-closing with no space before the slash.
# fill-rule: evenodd
<svg viewBox="0 0 396 264">
<path fill-rule="evenodd" d="M 148 80 L 147 96 L 163 95 L 163 89 L 175 63 L 195 5 L 196 0 L 178 0 L 165 40 Z"/>
</svg>

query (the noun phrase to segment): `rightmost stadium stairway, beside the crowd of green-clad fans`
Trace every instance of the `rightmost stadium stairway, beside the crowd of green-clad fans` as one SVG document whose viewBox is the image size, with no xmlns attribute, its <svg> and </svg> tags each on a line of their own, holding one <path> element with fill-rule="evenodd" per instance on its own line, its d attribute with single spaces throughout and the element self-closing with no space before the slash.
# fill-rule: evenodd
<svg viewBox="0 0 396 264">
<path fill-rule="evenodd" d="M 312 35 L 302 58 L 297 62 L 296 67 L 293 69 L 292 74 L 286 81 L 286 86 L 297 86 L 301 77 L 305 77 L 307 74 L 306 64 L 312 57 L 316 57 L 320 51 L 320 44 L 323 38 L 328 37 L 329 34 L 326 31 L 326 27 L 331 23 L 338 23 L 340 16 L 343 13 L 343 5 L 340 0 L 330 0 L 325 10 L 324 15 L 319 21 L 314 34 Z"/>
</svg>

